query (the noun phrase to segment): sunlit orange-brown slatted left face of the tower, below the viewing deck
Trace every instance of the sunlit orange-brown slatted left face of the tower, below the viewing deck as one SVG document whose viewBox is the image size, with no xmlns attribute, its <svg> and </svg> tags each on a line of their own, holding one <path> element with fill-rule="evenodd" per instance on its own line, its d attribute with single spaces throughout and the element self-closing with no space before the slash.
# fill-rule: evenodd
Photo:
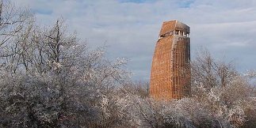
<svg viewBox="0 0 256 128">
<path fill-rule="evenodd" d="M 156 99 L 171 97 L 170 53 L 173 36 L 168 36 L 156 43 L 151 67 L 151 96 Z"/>
</svg>

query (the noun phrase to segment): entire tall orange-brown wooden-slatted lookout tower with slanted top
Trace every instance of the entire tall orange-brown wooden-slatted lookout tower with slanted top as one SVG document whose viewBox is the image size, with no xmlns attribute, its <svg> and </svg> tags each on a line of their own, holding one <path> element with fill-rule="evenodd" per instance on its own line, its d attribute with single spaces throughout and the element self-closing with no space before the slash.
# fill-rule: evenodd
<svg viewBox="0 0 256 128">
<path fill-rule="evenodd" d="M 166 29 L 166 26 L 174 27 L 177 23 L 182 30 L 186 31 L 175 28 Z M 182 28 L 182 26 L 185 27 Z M 169 34 L 161 35 L 162 30 Z M 155 100 L 180 99 L 189 96 L 190 39 L 187 35 L 189 27 L 178 21 L 164 22 L 161 32 L 152 60 L 150 95 Z"/>
</svg>

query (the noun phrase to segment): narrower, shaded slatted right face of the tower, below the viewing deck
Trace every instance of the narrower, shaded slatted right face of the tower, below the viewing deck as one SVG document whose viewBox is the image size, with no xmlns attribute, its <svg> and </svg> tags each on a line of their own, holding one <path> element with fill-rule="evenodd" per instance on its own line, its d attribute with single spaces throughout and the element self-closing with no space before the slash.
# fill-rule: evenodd
<svg viewBox="0 0 256 128">
<path fill-rule="evenodd" d="M 172 49 L 172 96 L 180 99 L 190 93 L 190 44 L 189 38 L 182 36 L 174 37 L 174 47 Z"/>
</svg>

